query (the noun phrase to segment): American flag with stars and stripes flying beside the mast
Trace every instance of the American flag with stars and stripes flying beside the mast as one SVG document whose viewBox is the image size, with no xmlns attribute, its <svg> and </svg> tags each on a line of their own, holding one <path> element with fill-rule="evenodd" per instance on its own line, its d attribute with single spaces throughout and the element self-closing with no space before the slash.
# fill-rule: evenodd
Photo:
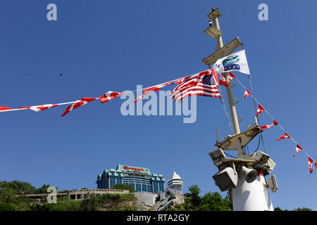
<svg viewBox="0 0 317 225">
<path fill-rule="evenodd" d="M 189 77 L 173 89 L 170 96 L 174 101 L 182 101 L 187 96 L 209 96 L 220 98 L 216 79 L 211 70 L 199 72 Z"/>
</svg>

